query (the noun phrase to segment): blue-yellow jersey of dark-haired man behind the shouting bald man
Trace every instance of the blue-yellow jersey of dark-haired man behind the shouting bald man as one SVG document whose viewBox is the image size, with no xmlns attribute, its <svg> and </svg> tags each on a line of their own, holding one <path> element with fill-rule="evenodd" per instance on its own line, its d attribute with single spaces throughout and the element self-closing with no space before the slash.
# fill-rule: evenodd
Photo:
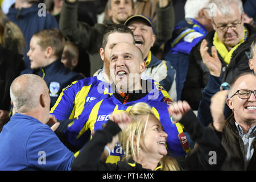
<svg viewBox="0 0 256 182">
<path fill-rule="evenodd" d="M 89 102 L 110 93 L 110 85 L 96 76 L 74 81 L 63 89 L 50 114 L 58 120 L 77 118 Z"/>
</svg>

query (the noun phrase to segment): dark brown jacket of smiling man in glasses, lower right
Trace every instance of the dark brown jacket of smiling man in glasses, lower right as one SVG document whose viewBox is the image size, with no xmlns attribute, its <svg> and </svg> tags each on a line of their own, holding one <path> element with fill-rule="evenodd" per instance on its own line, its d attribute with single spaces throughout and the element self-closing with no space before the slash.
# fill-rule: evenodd
<svg viewBox="0 0 256 182">
<path fill-rule="evenodd" d="M 243 140 L 238 134 L 238 129 L 236 127 L 234 120 L 234 114 L 226 120 L 224 131 L 218 133 L 218 136 L 221 138 L 221 143 L 224 146 L 228 155 L 221 167 L 221 170 L 256 170 L 256 139 L 253 140 L 253 156 L 245 168 L 245 159 L 244 159 L 244 149 L 243 149 Z"/>
</svg>

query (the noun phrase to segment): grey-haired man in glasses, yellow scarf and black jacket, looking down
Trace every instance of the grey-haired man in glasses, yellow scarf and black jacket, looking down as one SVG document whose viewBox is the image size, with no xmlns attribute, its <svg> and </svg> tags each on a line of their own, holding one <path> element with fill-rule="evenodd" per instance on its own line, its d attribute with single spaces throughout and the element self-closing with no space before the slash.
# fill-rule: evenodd
<svg viewBox="0 0 256 182">
<path fill-rule="evenodd" d="M 200 55 L 201 43 L 210 59 L 221 61 L 222 88 L 228 89 L 234 78 L 250 71 L 250 44 L 256 38 L 256 31 L 250 24 L 243 23 L 243 15 L 241 0 L 210 1 L 209 16 L 214 30 L 193 47 L 181 94 L 181 100 L 188 101 L 193 110 L 198 109 L 209 77 L 209 70 Z"/>
</svg>

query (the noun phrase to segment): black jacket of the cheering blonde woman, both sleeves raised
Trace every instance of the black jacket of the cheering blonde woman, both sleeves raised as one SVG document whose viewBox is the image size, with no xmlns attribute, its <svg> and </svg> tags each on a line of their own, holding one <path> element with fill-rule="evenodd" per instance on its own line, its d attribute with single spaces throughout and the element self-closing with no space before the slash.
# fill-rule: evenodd
<svg viewBox="0 0 256 182">
<path fill-rule="evenodd" d="M 178 160 L 181 168 L 185 170 L 219 169 L 222 161 L 226 157 L 226 151 L 221 145 L 217 135 L 214 134 L 214 130 L 202 126 L 192 110 L 189 110 L 184 115 L 180 120 L 180 123 L 184 125 L 192 139 L 195 139 L 200 147 L 194 148 L 191 154 L 187 155 L 185 160 Z M 93 139 L 82 148 L 80 154 L 72 163 L 72 170 L 149 170 L 143 168 L 139 163 L 135 163 L 135 165 L 131 166 L 125 161 L 118 162 L 117 164 L 110 164 L 99 160 L 105 145 L 111 142 L 113 136 L 118 134 L 119 131 L 121 131 L 121 129 L 117 124 L 108 121 L 104 129 L 96 131 Z M 215 151 L 217 154 L 216 164 L 209 164 L 210 151 Z"/>
</svg>

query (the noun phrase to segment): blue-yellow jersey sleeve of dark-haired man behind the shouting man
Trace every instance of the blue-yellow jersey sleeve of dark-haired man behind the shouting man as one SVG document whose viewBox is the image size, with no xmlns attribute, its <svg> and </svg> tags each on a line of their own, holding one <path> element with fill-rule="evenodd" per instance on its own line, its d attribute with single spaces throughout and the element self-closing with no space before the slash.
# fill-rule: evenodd
<svg viewBox="0 0 256 182">
<path fill-rule="evenodd" d="M 72 111 L 76 93 L 79 91 L 77 81 L 66 86 L 60 93 L 55 105 L 51 108 L 50 114 L 55 115 L 58 120 L 72 119 Z"/>
</svg>

